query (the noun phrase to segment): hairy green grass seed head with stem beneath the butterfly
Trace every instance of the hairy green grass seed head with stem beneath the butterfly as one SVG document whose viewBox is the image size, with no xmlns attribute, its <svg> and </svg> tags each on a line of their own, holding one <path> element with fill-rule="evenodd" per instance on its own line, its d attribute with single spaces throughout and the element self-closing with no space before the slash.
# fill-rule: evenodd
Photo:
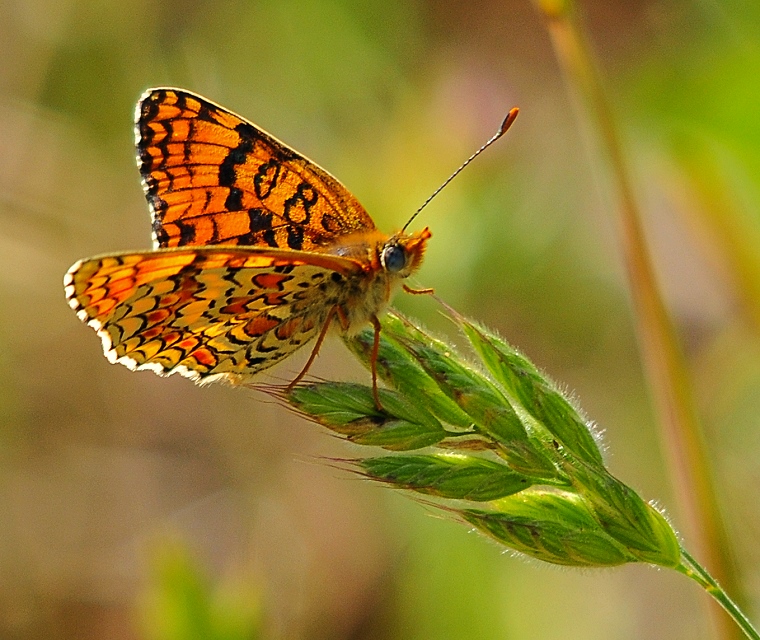
<svg viewBox="0 0 760 640">
<path fill-rule="evenodd" d="M 736 603 L 683 549 L 667 518 L 607 470 L 575 403 L 498 335 L 447 311 L 475 357 L 462 357 L 387 314 L 376 364 L 392 388 L 379 390 L 380 407 L 371 387 L 355 383 L 259 388 L 339 437 L 380 450 L 334 461 L 340 466 L 417 496 L 503 547 L 544 562 L 675 569 L 724 608 L 733 630 L 760 640 Z M 371 367 L 374 332 L 345 340 Z"/>
</svg>

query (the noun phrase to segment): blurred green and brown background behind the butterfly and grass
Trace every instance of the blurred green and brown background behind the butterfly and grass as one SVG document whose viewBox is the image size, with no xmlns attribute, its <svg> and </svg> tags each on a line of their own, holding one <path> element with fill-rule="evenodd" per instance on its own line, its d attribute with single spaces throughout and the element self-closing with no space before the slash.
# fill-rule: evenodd
<svg viewBox="0 0 760 640">
<path fill-rule="evenodd" d="M 760 5 L 581 9 L 757 620 Z M 273 132 L 389 232 L 519 105 L 420 218 L 419 284 L 572 390 L 678 527 L 614 197 L 529 0 L 6 0 L 0 43 L 0 637 L 708 637 L 675 572 L 503 554 L 335 470 L 356 452 L 266 398 L 109 365 L 63 298 L 75 260 L 150 246 L 132 133 L 150 86 Z M 396 305 L 452 335 L 432 300 Z M 313 373 L 368 379 L 337 339 Z"/>
</svg>

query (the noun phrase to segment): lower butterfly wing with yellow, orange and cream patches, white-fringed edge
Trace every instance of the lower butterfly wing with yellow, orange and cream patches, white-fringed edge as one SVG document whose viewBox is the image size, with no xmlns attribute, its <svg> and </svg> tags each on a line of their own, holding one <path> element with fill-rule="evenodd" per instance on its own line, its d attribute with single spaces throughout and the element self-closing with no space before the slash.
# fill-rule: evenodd
<svg viewBox="0 0 760 640">
<path fill-rule="evenodd" d="M 241 382 L 311 340 L 340 303 L 333 274 L 299 252 L 235 248 L 110 255 L 75 264 L 69 304 L 106 356 L 132 369 Z M 295 255 L 294 255 L 295 254 Z"/>
</svg>

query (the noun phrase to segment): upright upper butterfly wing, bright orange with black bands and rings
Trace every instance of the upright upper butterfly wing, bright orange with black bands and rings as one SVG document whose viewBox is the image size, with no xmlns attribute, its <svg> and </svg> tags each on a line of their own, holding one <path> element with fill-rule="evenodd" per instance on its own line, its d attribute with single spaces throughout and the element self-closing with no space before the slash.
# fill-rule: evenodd
<svg viewBox="0 0 760 640">
<path fill-rule="evenodd" d="M 375 229 L 327 171 L 200 96 L 146 92 L 136 139 L 156 247 L 322 251 L 341 235 Z"/>
</svg>

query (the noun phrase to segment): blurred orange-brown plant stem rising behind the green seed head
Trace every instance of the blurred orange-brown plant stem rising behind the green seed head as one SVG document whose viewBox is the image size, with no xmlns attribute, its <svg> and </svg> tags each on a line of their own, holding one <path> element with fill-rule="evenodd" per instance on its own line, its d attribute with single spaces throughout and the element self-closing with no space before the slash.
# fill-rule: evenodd
<svg viewBox="0 0 760 640">
<path fill-rule="evenodd" d="M 619 195 L 623 256 L 638 319 L 639 344 L 660 415 L 669 468 L 688 538 L 721 582 L 739 592 L 685 359 L 660 295 L 620 137 L 591 47 L 577 24 L 572 0 L 534 1 L 547 18 L 566 80 L 584 99 L 609 160 L 611 178 Z M 733 630 L 733 626 L 721 626 Z M 726 631 L 724 636 L 732 633 Z"/>
</svg>

